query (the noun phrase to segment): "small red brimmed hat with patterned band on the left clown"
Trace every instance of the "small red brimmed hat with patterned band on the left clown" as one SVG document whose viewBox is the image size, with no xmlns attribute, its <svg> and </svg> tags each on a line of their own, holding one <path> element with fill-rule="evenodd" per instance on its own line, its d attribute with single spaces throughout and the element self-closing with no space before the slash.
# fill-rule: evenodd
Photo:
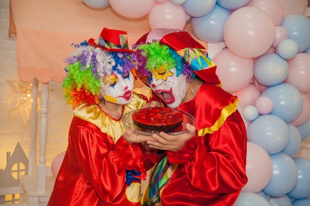
<svg viewBox="0 0 310 206">
<path fill-rule="evenodd" d="M 106 27 L 97 40 L 89 39 L 88 44 L 110 52 L 134 52 L 128 48 L 127 32 Z"/>
</svg>

